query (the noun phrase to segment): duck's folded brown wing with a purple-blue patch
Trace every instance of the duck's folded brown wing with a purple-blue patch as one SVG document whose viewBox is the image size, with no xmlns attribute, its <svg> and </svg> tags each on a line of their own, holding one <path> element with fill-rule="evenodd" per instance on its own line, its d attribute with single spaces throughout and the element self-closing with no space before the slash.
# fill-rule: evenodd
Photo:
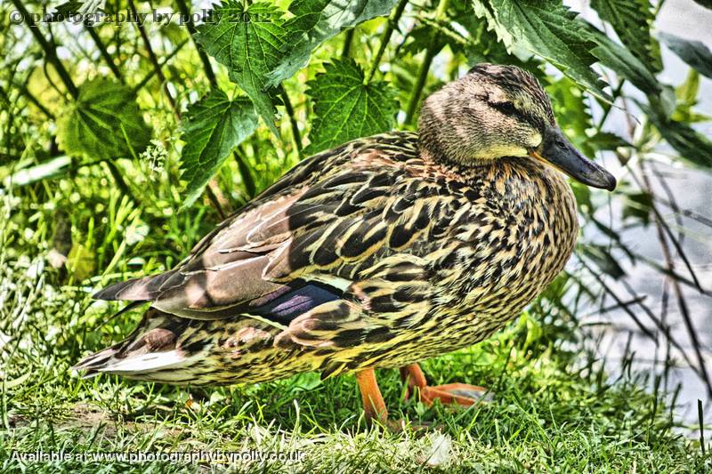
<svg viewBox="0 0 712 474">
<path fill-rule="evenodd" d="M 417 237 L 433 227 L 433 212 L 443 203 L 438 186 L 424 188 L 413 179 L 415 158 L 416 135 L 398 133 L 304 160 L 198 242 L 176 268 L 109 286 L 95 297 L 152 301 L 157 309 L 197 319 L 245 315 L 287 326 L 303 317 L 290 333 L 295 342 L 318 337 L 329 320 L 342 333 L 361 327 L 363 338 L 364 327 L 377 325 L 344 320 L 358 319 L 353 305 L 376 309 L 402 299 L 401 293 L 417 295 L 413 285 L 426 281 L 413 251 L 427 242 Z M 399 293 L 401 286 L 408 291 Z M 342 309 L 336 323 L 334 315 L 325 316 L 328 303 L 346 304 L 350 314 Z M 320 323 L 304 323 L 308 318 Z"/>
</svg>

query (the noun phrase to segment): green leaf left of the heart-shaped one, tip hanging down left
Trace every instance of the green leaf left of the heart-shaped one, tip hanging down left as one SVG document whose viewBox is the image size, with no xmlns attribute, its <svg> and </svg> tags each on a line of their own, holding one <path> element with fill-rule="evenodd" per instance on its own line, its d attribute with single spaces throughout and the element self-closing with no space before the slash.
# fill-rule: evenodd
<svg viewBox="0 0 712 474">
<path fill-rule="evenodd" d="M 188 181 L 183 208 L 195 202 L 232 149 L 256 128 L 255 108 L 247 97 L 229 100 L 214 90 L 188 108 L 182 134 L 182 179 Z"/>
</svg>

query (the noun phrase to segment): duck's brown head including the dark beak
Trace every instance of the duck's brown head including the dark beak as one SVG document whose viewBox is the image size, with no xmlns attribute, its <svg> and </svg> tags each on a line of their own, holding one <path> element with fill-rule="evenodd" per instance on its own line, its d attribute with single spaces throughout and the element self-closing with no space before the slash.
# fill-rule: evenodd
<svg viewBox="0 0 712 474">
<path fill-rule="evenodd" d="M 433 92 L 421 108 L 418 136 L 433 157 L 458 165 L 531 157 L 588 186 L 616 187 L 613 175 L 584 157 L 556 126 L 537 79 L 514 66 L 479 64 Z"/>
</svg>

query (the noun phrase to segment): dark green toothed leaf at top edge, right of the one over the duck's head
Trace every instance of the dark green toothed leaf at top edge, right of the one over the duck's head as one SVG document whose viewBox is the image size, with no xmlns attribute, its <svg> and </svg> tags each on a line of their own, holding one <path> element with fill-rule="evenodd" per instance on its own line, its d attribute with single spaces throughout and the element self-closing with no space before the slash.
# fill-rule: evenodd
<svg viewBox="0 0 712 474">
<path fill-rule="evenodd" d="M 637 58 L 651 69 L 660 70 L 659 48 L 651 37 L 654 16 L 648 0 L 593 0 L 591 6 Z"/>
</svg>

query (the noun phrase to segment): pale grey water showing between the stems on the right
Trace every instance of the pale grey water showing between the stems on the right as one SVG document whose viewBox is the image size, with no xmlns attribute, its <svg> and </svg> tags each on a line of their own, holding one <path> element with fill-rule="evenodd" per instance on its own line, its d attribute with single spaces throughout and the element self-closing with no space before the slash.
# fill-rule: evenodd
<svg viewBox="0 0 712 474">
<path fill-rule="evenodd" d="M 582 8 L 584 2 L 569 2 L 569 4 L 574 10 L 585 10 L 585 8 Z M 595 14 L 587 15 L 587 20 L 595 22 Z M 709 28 L 709 25 L 712 25 L 712 10 L 703 8 L 699 4 L 692 2 L 692 0 L 667 0 L 659 12 L 654 29 L 656 32 L 662 31 L 685 39 L 701 41 L 712 49 L 712 29 Z M 662 47 L 662 56 L 665 70 L 659 74 L 661 82 L 674 85 L 684 82 L 689 69 L 688 66 L 674 53 L 667 50 L 665 46 Z M 708 116 L 712 116 L 712 93 L 710 92 L 712 92 L 712 81 L 706 77 L 700 77 L 700 103 L 696 110 Z M 628 136 L 626 117 L 619 110 L 612 112 L 605 128 L 619 133 L 623 137 Z M 712 137 L 712 124 L 695 125 L 695 128 L 700 133 Z M 621 176 L 625 173 L 625 170 L 621 169 L 617 161 L 617 158 L 613 157 L 612 154 L 611 156 L 603 157 L 603 163 L 617 171 L 617 176 Z M 679 207 L 712 218 L 712 199 L 710 199 L 712 197 L 712 173 L 682 167 L 674 163 L 656 164 L 655 167 L 659 173 L 665 176 L 667 185 L 672 190 Z M 659 182 L 654 177 L 651 177 L 651 181 L 652 188 L 658 196 L 664 197 L 665 192 Z M 659 211 L 671 229 L 677 232 L 678 228 L 674 213 L 665 205 L 659 205 Z M 602 209 L 599 217 L 603 218 L 603 222 L 608 222 L 610 215 L 612 215 L 614 224 L 620 222 L 620 203 L 616 202 L 616 200 L 614 200 L 610 210 Z M 614 225 L 616 229 L 619 229 L 619 227 L 619 225 Z M 635 250 L 636 253 L 658 261 L 663 266 L 665 265 L 657 229 L 653 224 L 647 228 L 639 227 L 623 230 L 621 235 L 624 243 Z M 692 262 L 692 268 L 700 279 L 702 287 L 712 293 L 712 238 L 710 238 L 712 229 L 698 221 L 684 218 L 684 235 L 684 252 L 689 261 Z M 598 240 L 605 243 L 605 238 L 599 237 Z M 673 248 L 671 248 L 671 251 L 675 252 Z M 674 261 L 676 271 L 689 277 L 684 261 L 679 255 L 674 254 Z M 651 269 L 641 263 L 632 264 L 625 258 L 621 258 L 619 263 L 627 271 L 627 281 L 633 286 L 635 293 L 645 295 L 644 303 L 659 317 L 663 305 L 662 293 L 665 277 L 655 269 Z M 575 263 L 572 263 L 572 265 L 575 265 Z M 607 279 L 607 282 L 614 288 L 616 293 L 621 296 L 625 295 L 622 298 L 624 301 L 631 299 L 623 285 L 610 282 L 610 278 Z M 671 325 L 672 336 L 680 342 L 688 357 L 697 364 L 697 357 L 692 347 L 690 335 L 685 328 L 682 313 L 678 308 L 675 293 L 672 292 L 671 287 L 668 287 L 668 290 L 667 323 Z M 702 357 L 708 366 L 709 376 L 712 378 L 712 349 L 710 349 L 712 348 L 712 297 L 701 295 L 688 286 L 683 286 L 682 290 L 684 299 L 689 307 L 692 324 L 700 337 Z M 610 305 L 612 303 L 613 301 L 609 299 L 607 304 Z M 632 306 L 631 309 L 635 311 L 636 316 L 647 327 L 654 329 L 651 319 L 645 316 L 643 310 L 635 306 Z M 664 371 L 665 365 L 663 361 L 665 360 L 666 348 L 662 338 L 659 338 L 661 344 L 656 347 L 650 338 L 640 332 L 633 319 L 624 310 L 619 309 L 603 315 L 594 314 L 587 317 L 587 319 L 589 322 L 603 320 L 610 323 L 610 325 L 596 329 L 597 335 L 603 337 L 602 343 L 597 348 L 601 356 L 605 356 L 609 361 L 625 357 L 628 334 L 632 333 L 631 345 L 628 350 L 635 352 L 634 367 L 643 370 L 652 368 L 658 374 Z M 678 351 L 673 349 L 672 356 L 679 363 L 679 366 L 672 368 L 669 373 L 668 389 L 674 388 L 678 382 L 681 383 L 681 392 L 677 399 L 680 404 L 678 410 L 680 419 L 691 425 L 697 425 L 697 401 L 700 399 L 706 404 L 706 422 L 712 422 L 712 400 L 708 397 L 705 384 L 692 369 L 685 367 L 684 360 L 682 360 Z M 615 367 L 616 365 L 610 364 L 610 366 Z"/>
</svg>

